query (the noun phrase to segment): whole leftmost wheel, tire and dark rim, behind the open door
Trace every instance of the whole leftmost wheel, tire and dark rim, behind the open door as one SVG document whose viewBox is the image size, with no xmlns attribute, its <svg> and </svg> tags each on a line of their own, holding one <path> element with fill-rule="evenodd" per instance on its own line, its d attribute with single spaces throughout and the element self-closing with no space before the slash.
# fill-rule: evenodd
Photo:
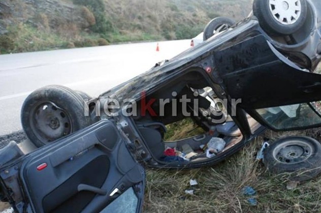
<svg viewBox="0 0 321 213">
<path fill-rule="evenodd" d="M 64 86 L 46 86 L 31 93 L 21 110 L 21 123 L 28 138 L 37 147 L 91 124 L 84 115 L 84 99 Z"/>
</svg>

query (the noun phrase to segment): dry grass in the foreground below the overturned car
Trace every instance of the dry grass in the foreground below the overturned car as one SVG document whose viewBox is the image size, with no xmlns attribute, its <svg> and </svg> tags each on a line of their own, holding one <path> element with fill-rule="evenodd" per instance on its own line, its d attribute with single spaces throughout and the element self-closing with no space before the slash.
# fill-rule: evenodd
<svg viewBox="0 0 321 213">
<path fill-rule="evenodd" d="M 285 135 L 319 137 L 320 132 L 320 129 L 285 133 L 267 131 L 263 136 L 272 139 Z M 320 212 L 321 179 L 286 190 L 288 174 L 271 175 L 263 163 L 255 159 L 263 136 L 214 167 L 148 169 L 144 212 Z M 190 179 L 199 183 L 195 195 L 184 193 L 191 188 Z M 251 206 L 247 201 L 249 197 L 242 194 L 245 186 L 256 190 L 256 206 Z"/>
</svg>

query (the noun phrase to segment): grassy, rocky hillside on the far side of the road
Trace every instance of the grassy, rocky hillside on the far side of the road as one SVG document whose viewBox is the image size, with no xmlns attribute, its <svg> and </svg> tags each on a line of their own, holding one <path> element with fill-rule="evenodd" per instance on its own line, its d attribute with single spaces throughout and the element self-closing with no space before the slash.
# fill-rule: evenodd
<svg viewBox="0 0 321 213">
<path fill-rule="evenodd" d="M 0 51 L 189 39 L 216 16 L 246 17 L 251 0 L 1 0 Z"/>
</svg>

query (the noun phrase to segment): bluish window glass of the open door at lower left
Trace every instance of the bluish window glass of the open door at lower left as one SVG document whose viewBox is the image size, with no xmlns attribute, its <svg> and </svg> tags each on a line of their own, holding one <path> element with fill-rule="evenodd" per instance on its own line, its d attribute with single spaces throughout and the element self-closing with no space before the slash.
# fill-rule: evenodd
<svg viewBox="0 0 321 213">
<path fill-rule="evenodd" d="M 138 208 L 138 198 L 131 187 L 111 202 L 101 213 L 135 213 Z"/>
</svg>

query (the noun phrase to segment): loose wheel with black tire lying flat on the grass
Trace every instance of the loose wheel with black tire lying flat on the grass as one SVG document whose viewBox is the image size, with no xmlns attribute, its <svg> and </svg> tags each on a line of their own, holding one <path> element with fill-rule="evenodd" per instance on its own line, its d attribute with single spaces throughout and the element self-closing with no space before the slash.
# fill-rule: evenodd
<svg viewBox="0 0 321 213">
<path fill-rule="evenodd" d="M 310 137 L 284 137 L 265 150 L 263 162 L 272 173 L 290 173 L 293 181 L 308 181 L 321 172 L 321 145 Z"/>
</svg>

